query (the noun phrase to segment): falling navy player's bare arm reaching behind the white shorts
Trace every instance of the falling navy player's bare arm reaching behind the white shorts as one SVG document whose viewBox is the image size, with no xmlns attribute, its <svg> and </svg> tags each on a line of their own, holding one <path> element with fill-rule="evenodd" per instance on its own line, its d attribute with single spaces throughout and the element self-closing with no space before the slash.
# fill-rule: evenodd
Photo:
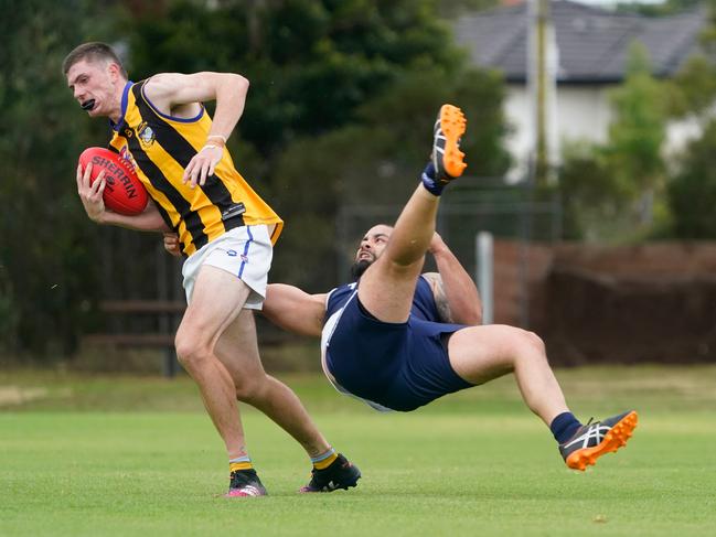
<svg viewBox="0 0 716 537">
<path fill-rule="evenodd" d="M 269 283 L 261 313 L 295 334 L 319 337 L 325 318 L 325 294 L 309 294 L 285 283 Z"/>
</svg>

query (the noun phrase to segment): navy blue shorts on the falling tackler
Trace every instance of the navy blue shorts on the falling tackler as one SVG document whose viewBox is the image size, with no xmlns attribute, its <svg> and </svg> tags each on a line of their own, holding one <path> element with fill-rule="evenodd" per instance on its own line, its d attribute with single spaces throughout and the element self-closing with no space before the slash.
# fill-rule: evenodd
<svg viewBox="0 0 716 537">
<path fill-rule="evenodd" d="M 447 340 L 466 327 L 424 321 L 384 323 L 351 300 L 331 335 L 327 366 L 351 394 L 409 411 L 473 386 L 450 365 Z"/>
</svg>

